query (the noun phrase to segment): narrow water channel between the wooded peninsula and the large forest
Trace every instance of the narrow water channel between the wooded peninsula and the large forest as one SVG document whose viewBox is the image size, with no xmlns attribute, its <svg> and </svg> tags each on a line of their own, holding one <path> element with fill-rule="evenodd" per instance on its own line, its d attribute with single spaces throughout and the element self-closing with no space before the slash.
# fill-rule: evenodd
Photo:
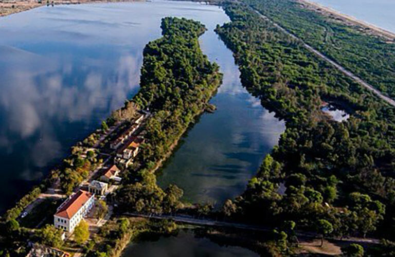
<svg viewBox="0 0 395 257">
<path fill-rule="evenodd" d="M 221 11 L 218 20 L 202 21 L 208 31 L 200 41 L 204 53 L 224 74 L 210 101 L 217 111 L 200 117 L 158 177 L 163 187 L 169 183 L 182 187 L 185 199 L 192 203 L 208 201 L 217 206 L 243 192 L 285 130 L 285 123 L 242 87 L 232 52 L 213 31 L 228 21 L 224 15 Z"/>
</svg>

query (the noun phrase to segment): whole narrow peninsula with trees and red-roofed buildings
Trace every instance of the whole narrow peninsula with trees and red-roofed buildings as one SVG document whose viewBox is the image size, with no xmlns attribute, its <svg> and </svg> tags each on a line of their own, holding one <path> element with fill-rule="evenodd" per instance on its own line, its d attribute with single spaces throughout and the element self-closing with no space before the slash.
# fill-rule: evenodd
<svg viewBox="0 0 395 257">
<path fill-rule="evenodd" d="M 161 189 L 154 170 L 205 111 L 222 74 L 200 49 L 203 24 L 167 17 L 161 29 L 163 36 L 143 51 L 140 89 L 133 99 L 73 146 L 70 156 L 2 217 L 0 226 L 10 227 L 10 234 L 0 233 L 2 253 L 14 256 L 21 247 L 31 252 L 49 247 L 80 256 L 85 246 L 89 256 L 118 256 L 141 231 L 172 230 L 166 221 L 150 228 L 147 221 L 119 214 L 171 213 L 185 207 L 179 200 L 183 190 L 175 185 Z M 63 196 L 68 197 L 63 201 Z M 21 230 L 28 233 L 18 236 Z M 89 232 L 94 240 L 88 241 Z"/>
</svg>

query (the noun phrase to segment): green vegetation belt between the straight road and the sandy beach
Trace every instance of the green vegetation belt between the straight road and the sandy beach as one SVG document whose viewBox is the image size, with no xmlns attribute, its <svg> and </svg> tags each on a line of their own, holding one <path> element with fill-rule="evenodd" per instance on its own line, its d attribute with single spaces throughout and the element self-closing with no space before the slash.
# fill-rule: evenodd
<svg viewBox="0 0 395 257">
<path fill-rule="evenodd" d="M 395 98 L 395 41 L 304 8 L 296 0 L 244 0 L 243 3 Z"/>
</svg>

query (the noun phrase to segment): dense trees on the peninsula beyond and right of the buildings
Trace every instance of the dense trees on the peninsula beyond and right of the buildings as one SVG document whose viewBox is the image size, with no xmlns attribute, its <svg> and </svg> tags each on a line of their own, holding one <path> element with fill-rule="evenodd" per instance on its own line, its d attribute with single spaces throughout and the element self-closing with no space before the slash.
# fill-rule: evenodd
<svg viewBox="0 0 395 257">
<path fill-rule="evenodd" d="M 148 43 L 143 51 L 140 90 L 130 103 L 131 108 L 149 108 L 152 116 L 146 124 L 147 142 L 140 159 L 144 164 L 136 166 L 138 171 L 132 168 L 131 178 L 125 181 L 134 183 L 123 186 L 116 195 L 121 212 L 160 214 L 182 206 L 183 191 L 174 185 L 165 190 L 158 187 L 152 170 L 204 111 L 222 79 L 218 65 L 211 64 L 199 47 L 204 25 L 167 17 L 161 29 L 163 37 Z"/>
</svg>

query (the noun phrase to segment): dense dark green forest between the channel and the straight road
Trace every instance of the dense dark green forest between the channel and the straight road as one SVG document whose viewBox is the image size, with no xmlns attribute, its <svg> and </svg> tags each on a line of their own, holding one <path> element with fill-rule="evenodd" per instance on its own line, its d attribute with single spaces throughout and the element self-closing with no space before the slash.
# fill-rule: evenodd
<svg viewBox="0 0 395 257">
<path fill-rule="evenodd" d="M 216 31 L 234 52 L 243 85 L 287 127 L 224 214 L 277 226 L 292 220 L 298 229 L 340 237 L 394 236 L 394 109 L 250 7 L 224 8 L 231 22 Z M 350 118 L 329 119 L 325 102 Z"/>
</svg>

